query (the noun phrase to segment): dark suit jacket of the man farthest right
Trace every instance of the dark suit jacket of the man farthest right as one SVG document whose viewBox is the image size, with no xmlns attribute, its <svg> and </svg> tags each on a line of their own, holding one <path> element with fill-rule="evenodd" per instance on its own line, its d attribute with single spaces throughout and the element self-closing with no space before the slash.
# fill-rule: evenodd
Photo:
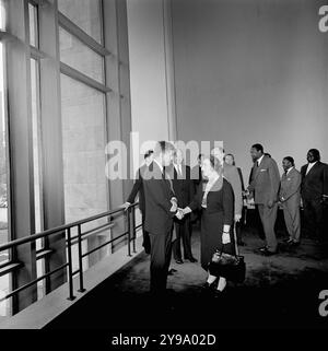
<svg viewBox="0 0 328 351">
<path fill-rule="evenodd" d="M 301 194 L 303 199 L 318 200 L 328 195 L 328 165 L 318 161 L 307 173 L 307 164 L 302 166 Z"/>
</svg>

